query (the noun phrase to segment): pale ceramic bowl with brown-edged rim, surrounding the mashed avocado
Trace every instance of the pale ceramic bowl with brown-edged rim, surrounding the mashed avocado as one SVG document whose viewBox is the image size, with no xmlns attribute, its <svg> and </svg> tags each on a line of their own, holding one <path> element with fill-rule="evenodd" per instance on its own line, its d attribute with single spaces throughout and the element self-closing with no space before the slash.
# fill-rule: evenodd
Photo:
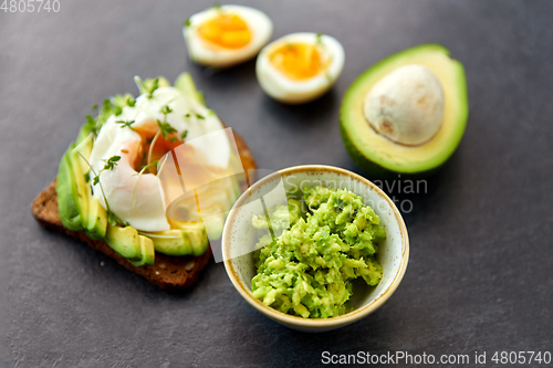
<svg viewBox="0 0 553 368">
<path fill-rule="evenodd" d="M 380 217 L 386 229 L 386 241 L 380 243 L 377 259 L 380 262 L 384 275 L 376 287 L 364 283 L 354 284 L 352 304 L 354 311 L 340 317 L 326 319 L 311 319 L 291 316 L 273 309 L 251 294 L 251 280 L 255 275 L 253 265 L 254 244 L 259 234 L 251 225 L 251 218 L 259 206 L 248 206 L 253 197 L 263 197 L 271 202 L 271 192 L 279 186 L 288 192 L 296 188 L 325 186 L 328 188 L 348 189 L 361 196 L 365 204 L 369 204 Z M 250 203 L 251 204 L 251 203 Z M 267 203 L 265 203 L 267 204 Z M 259 214 L 259 213 L 258 213 Z M 302 332 L 325 332 L 357 322 L 380 307 L 396 291 L 407 269 L 409 260 L 409 240 L 401 214 L 394 202 L 377 186 L 359 175 L 345 169 L 306 165 L 296 166 L 269 175 L 246 191 L 236 202 L 229 213 L 222 234 L 222 256 L 230 281 L 255 309 L 269 318 L 293 329 Z M 240 254 L 237 256 L 237 254 Z"/>
</svg>

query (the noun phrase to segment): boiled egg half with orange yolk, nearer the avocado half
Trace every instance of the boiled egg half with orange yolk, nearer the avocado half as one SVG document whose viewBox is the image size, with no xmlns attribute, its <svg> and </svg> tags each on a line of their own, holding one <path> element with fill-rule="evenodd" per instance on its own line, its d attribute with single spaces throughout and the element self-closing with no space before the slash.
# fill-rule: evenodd
<svg viewBox="0 0 553 368">
<path fill-rule="evenodd" d="M 321 33 L 292 33 L 269 45 L 255 64 L 261 88 L 274 99 L 303 104 L 323 95 L 344 69 L 344 49 Z"/>
</svg>

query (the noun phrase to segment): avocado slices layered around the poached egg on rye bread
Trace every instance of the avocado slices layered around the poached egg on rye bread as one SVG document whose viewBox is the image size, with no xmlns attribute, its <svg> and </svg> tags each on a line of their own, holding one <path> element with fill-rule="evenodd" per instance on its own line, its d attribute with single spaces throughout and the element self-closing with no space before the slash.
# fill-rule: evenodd
<svg viewBox="0 0 553 368">
<path fill-rule="evenodd" d="M 170 85 L 164 77 L 142 81 L 138 78 L 140 93 L 152 88 Z M 182 73 L 175 87 L 187 96 L 204 104 L 204 94 L 196 90 L 188 73 Z M 206 225 L 202 222 L 178 222 L 176 229 L 164 232 L 147 233 L 122 223 L 109 223 L 108 213 L 97 198 L 93 196 L 91 183 L 94 174 L 90 172 L 90 158 L 95 129 L 113 114 L 121 112 L 126 105 L 134 105 L 132 95 L 117 95 L 104 101 L 98 117 L 88 118 L 79 136 L 63 155 L 58 171 L 56 193 L 58 209 L 63 225 L 72 231 L 84 231 L 94 240 L 104 240 L 115 252 L 124 256 L 135 266 L 154 264 L 155 252 L 168 255 L 201 255 L 209 248 Z M 225 219 L 221 219 L 225 221 Z M 113 222 L 113 221 L 112 221 Z M 121 221 L 119 221 L 121 222 Z M 220 227 L 220 221 L 217 225 Z"/>
</svg>

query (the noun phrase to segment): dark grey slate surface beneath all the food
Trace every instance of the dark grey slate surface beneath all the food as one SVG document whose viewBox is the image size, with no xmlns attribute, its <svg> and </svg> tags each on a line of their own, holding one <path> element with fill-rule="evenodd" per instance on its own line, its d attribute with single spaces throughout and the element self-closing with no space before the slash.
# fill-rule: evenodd
<svg viewBox="0 0 553 368">
<path fill-rule="evenodd" d="M 344 73 L 305 106 L 268 98 L 254 63 L 213 74 L 187 61 L 181 23 L 208 1 L 69 1 L 0 12 L 0 361 L 17 367 L 317 366 L 321 354 L 553 350 L 552 1 L 247 1 L 273 39 L 338 39 Z M 238 1 L 242 3 L 242 1 Z M 261 168 L 326 164 L 359 172 L 338 133 L 341 98 L 382 57 L 442 43 L 466 67 L 470 118 L 428 191 L 405 196 L 410 261 L 395 295 L 340 330 L 267 319 L 210 264 L 170 295 L 32 219 L 32 199 L 91 106 L 133 76 L 190 71 Z M 389 191 L 388 191 L 389 192 Z"/>
</svg>

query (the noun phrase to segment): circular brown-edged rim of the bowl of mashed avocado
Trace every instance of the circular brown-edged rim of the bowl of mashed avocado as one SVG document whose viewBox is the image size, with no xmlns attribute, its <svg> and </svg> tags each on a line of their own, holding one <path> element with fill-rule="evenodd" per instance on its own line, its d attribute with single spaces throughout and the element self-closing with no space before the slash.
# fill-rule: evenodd
<svg viewBox="0 0 553 368">
<path fill-rule="evenodd" d="M 240 278 L 238 276 L 237 271 L 234 270 L 231 260 L 229 260 L 226 254 L 228 246 L 230 244 L 230 228 L 232 227 L 237 213 L 237 203 L 241 202 L 244 200 L 246 194 L 249 190 L 254 189 L 255 187 L 262 186 L 267 180 L 273 178 L 273 175 L 269 175 L 264 178 L 261 178 L 260 180 L 255 181 L 247 191 L 244 191 L 240 198 L 237 200 L 234 203 L 234 207 L 232 210 L 229 212 L 229 215 L 227 218 L 227 221 L 225 223 L 225 229 L 221 238 L 221 251 L 223 253 L 223 264 L 225 269 L 227 271 L 227 274 L 229 275 L 229 278 L 234 285 L 234 288 L 239 292 L 240 295 L 255 309 L 261 312 L 262 314 L 265 314 L 270 318 L 281 323 L 281 324 L 291 324 L 298 327 L 305 327 L 305 328 L 331 328 L 331 327 L 338 327 L 338 326 L 344 326 L 348 325 L 351 323 L 354 323 L 358 319 L 362 319 L 366 317 L 367 315 L 372 314 L 376 309 L 378 309 L 390 296 L 394 294 L 394 292 L 397 290 L 399 286 L 399 283 L 401 282 L 405 272 L 407 270 L 407 264 L 409 262 L 409 238 L 407 233 L 407 227 L 405 225 L 404 219 L 401 214 L 399 213 L 399 210 L 395 206 L 394 201 L 380 189 L 378 188 L 375 183 L 373 183 L 371 180 L 362 177 L 361 175 L 357 175 L 355 172 L 352 172 L 346 169 L 342 169 L 338 167 L 334 166 L 326 166 L 326 165 L 301 165 L 301 166 L 293 166 L 290 168 L 285 168 L 282 170 L 279 170 L 278 172 L 282 177 L 290 176 L 294 172 L 317 172 L 317 171 L 330 171 L 334 174 L 340 174 L 340 175 L 345 175 L 351 177 L 352 179 L 355 179 L 365 186 L 369 187 L 372 190 L 374 190 L 378 196 L 380 196 L 383 199 L 385 199 L 388 204 L 390 206 L 396 221 L 399 225 L 400 234 L 401 234 L 401 260 L 399 264 L 399 269 L 392 282 L 392 284 L 382 293 L 379 297 L 374 299 L 372 303 L 354 309 L 349 313 L 346 313 L 342 316 L 338 317 L 331 317 L 331 318 L 325 318 L 325 319 L 316 319 L 316 318 L 303 318 L 299 316 L 292 316 L 285 313 L 282 313 L 280 311 L 276 311 L 274 308 L 271 308 L 268 305 L 264 305 L 261 301 L 258 298 L 253 297 L 251 292 L 246 287 L 240 282 Z"/>
</svg>

